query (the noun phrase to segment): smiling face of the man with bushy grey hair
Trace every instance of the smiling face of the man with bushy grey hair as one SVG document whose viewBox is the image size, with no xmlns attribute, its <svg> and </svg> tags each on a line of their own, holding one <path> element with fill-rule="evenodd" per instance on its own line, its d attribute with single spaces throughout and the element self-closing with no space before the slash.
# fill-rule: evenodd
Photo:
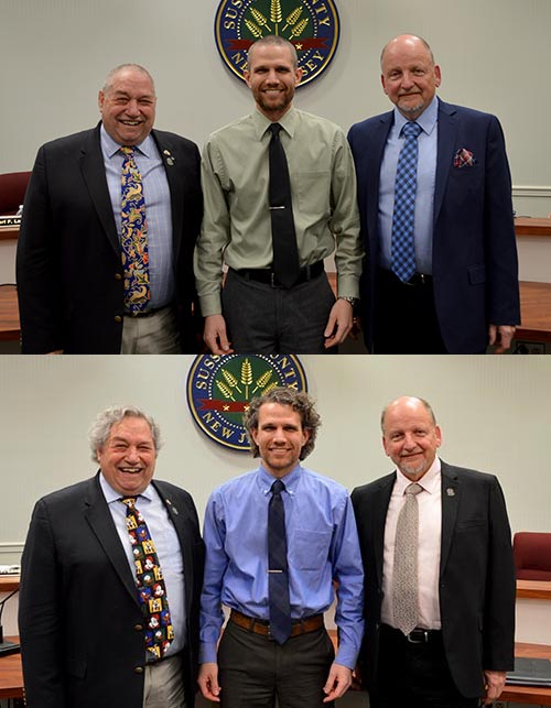
<svg viewBox="0 0 551 708">
<path fill-rule="evenodd" d="M 149 423 L 128 415 L 115 423 L 97 458 L 115 491 L 123 497 L 141 494 L 155 469 L 156 449 Z"/>
</svg>

